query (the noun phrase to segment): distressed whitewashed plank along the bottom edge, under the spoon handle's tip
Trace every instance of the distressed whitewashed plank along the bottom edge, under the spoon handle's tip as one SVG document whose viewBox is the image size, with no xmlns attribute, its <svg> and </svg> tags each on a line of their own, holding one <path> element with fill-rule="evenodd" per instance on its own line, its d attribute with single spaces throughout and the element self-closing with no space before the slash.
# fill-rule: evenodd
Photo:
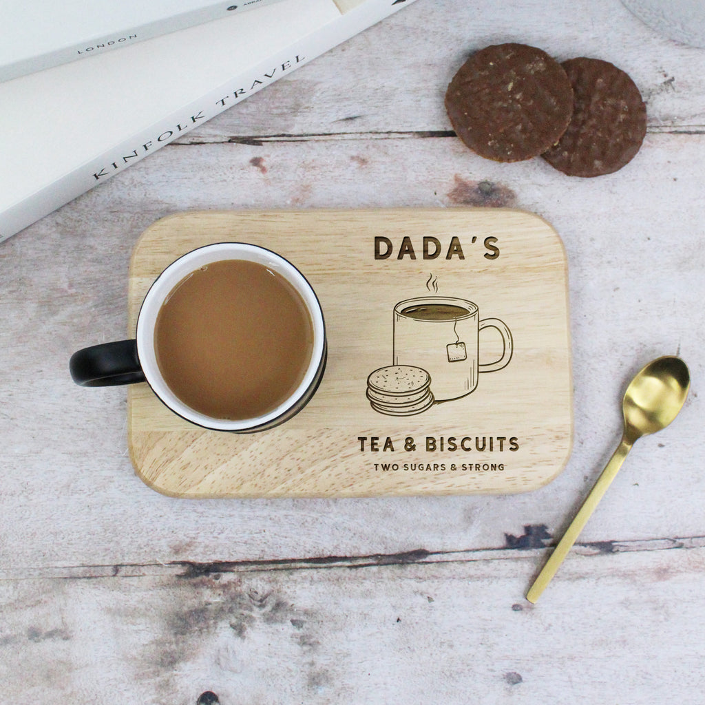
<svg viewBox="0 0 705 705">
<path fill-rule="evenodd" d="M 0 581 L 10 702 L 701 701 L 705 549 Z"/>
</svg>

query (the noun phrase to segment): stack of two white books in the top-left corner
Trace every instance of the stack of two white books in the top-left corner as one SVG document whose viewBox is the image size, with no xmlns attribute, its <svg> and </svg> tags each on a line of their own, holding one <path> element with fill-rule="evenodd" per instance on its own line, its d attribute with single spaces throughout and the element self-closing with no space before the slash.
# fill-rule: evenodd
<svg viewBox="0 0 705 705">
<path fill-rule="evenodd" d="M 4 3 L 0 241 L 413 1 Z"/>
</svg>

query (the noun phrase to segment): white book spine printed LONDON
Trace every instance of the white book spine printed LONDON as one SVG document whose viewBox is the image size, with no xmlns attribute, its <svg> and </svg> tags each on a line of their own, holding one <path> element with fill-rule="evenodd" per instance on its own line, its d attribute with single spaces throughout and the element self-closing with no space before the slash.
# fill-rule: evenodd
<svg viewBox="0 0 705 705">
<path fill-rule="evenodd" d="M 218 2 L 207 7 L 198 8 L 190 12 L 179 13 L 168 18 L 163 18 L 158 21 L 135 25 L 128 28 L 116 28 L 115 32 L 101 37 L 86 37 L 80 44 L 73 44 L 71 47 L 61 47 L 53 51 L 47 51 L 45 54 L 32 56 L 30 59 L 23 59 L 13 63 L 0 66 L 0 82 L 8 81 L 13 78 L 44 71 L 46 68 L 59 66 L 62 63 L 77 61 L 89 56 L 96 56 L 111 49 L 126 47 L 135 42 L 142 42 L 145 39 L 153 39 L 160 35 L 166 35 L 169 32 L 184 30 L 187 27 L 201 25 L 213 20 L 226 18 L 233 15 L 233 11 L 242 13 L 247 10 L 271 5 L 281 0 L 245 0 L 238 4 L 227 4 L 226 2 Z"/>
</svg>

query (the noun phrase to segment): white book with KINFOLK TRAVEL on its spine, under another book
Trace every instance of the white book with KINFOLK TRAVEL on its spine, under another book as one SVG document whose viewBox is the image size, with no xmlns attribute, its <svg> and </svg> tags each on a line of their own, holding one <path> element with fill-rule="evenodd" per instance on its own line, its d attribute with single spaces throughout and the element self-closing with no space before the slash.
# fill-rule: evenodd
<svg viewBox="0 0 705 705">
<path fill-rule="evenodd" d="M 0 84 L 0 242 L 413 0 L 283 0 Z"/>
</svg>

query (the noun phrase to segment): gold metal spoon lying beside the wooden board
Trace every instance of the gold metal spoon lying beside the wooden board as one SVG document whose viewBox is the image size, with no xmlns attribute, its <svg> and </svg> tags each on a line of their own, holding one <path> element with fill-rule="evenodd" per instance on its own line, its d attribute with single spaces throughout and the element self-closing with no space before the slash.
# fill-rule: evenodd
<svg viewBox="0 0 705 705">
<path fill-rule="evenodd" d="M 529 602 L 536 602 L 551 582 L 551 578 L 556 575 L 556 570 L 563 563 L 563 558 L 575 544 L 575 539 L 587 524 L 587 520 L 615 478 L 635 441 L 642 436 L 665 429 L 675 419 L 688 396 L 689 386 L 688 368 L 680 357 L 658 357 L 643 367 L 632 379 L 622 402 L 624 413 L 622 441 L 575 515 L 575 519 L 563 534 L 556 550 L 551 553 L 551 558 L 548 558 L 539 577 L 529 588 L 527 592 Z"/>
</svg>

